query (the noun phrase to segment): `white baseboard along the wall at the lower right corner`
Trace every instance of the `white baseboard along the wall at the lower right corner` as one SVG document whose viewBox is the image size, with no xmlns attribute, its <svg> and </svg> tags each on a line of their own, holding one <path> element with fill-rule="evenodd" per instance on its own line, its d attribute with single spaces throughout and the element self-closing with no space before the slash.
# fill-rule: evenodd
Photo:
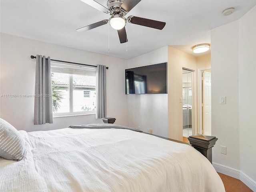
<svg viewBox="0 0 256 192">
<path fill-rule="evenodd" d="M 246 184 L 246 186 L 256 192 L 256 181 L 252 180 L 252 178 L 244 174 L 244 172 L 214 162 L 212 163 L 212 165 L 217 172 L 241 180 L 244 184 Z"/>
</svg>

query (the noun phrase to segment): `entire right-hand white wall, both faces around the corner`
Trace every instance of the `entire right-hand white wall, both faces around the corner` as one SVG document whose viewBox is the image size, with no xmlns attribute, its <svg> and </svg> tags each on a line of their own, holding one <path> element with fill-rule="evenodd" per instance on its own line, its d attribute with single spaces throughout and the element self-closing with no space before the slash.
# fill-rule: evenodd
<svg viewBox="0 0 256 192">
<path fill-rule="evenodd" d="M 256 190 L 256 7 L 211 33 L 213 162 Z M 226 96 L 226 104 L 220 104 Z M 220 154 L 220 146 L 227 154 Z"/>
</svg>

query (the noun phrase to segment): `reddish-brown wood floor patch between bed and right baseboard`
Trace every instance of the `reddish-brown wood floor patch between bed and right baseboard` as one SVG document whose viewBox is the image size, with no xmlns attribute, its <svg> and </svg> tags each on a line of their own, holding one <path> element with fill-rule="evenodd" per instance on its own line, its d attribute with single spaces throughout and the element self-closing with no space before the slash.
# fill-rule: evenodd
<svg viewBox="0 0 256 192">
<path fill-rule="evenodd" d="M 226 192 L 253 192 L 239 179 L 218 173 L 224 184 Z"/>
</svg>

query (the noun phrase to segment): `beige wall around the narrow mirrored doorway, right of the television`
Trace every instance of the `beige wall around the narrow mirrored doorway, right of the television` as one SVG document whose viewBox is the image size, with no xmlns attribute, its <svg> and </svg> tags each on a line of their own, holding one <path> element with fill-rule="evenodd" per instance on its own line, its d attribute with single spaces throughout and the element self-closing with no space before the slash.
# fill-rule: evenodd
<svg viewBox="0 0 256 192">
<path fill-rule="evenodd" d="M 182 68 L 194 70 L 194 103 L 197 106 L 196 57 L 168 46 L 168 138 L 182 141 Z M 197 109 L 193 109 L 192 124 L 197 124 Z M 195 128 L 195 126 L 194 126 Z"/>
</svg>

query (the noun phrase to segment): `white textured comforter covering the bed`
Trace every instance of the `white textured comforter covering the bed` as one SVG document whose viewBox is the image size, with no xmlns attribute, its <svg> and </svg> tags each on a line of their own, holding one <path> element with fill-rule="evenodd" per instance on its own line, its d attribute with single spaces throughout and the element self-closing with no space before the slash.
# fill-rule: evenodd
<svg viewBox="0 0 256 192">
<path fill-rule="evenodd" d="M 1 192 L 224 192 L 186 144 L 125 129 L 25 132 L 26 154 L 0 158 Z"/>
</svg>

